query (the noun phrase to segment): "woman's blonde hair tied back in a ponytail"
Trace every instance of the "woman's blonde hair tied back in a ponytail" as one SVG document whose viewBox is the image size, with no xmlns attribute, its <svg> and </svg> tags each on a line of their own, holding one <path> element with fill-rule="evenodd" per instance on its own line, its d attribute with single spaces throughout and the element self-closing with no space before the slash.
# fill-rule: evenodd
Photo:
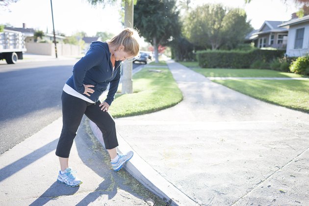
<svg viewBox="0 0 309 206">
<path fill-rule="evenodd" d="M 125 52 L 137 56 L 139 53 L 140 37 L 138 31 L 133 28 L 125 28 L 118 35 L 114 36 L 108 43 L 115 46 L 117 50 L 121 45 L 125 47 Z"/>
</svg>

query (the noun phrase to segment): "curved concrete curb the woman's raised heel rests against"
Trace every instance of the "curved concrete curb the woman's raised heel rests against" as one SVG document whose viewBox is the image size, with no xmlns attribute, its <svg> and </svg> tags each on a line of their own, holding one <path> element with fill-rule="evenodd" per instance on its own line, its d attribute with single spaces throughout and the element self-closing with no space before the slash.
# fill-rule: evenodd
<svg viewBox="0 0 309 206">
<path fill-rule="evenodd" d="M 89 124 L 94 135 L 104 147 L 102 132 L 93 122 L 90 121 Z M 117 138 L 120 145 L 117 147 L 117 149 L 120 153 L 125 151 L 134 152 L 133 158 L 124 166 L 124 168 L 136 180 L 141 182 L 151 192 L 172 206 L 198 205 L 192 199 L 182 193 L 178 188 L 176 188 L 172 183 L 164 179 L 158 172 L 156 172 L 129 146 L 126 140 L 124 140 L 124 138 L 119 133 L 117 133 Z"/>
</svg>

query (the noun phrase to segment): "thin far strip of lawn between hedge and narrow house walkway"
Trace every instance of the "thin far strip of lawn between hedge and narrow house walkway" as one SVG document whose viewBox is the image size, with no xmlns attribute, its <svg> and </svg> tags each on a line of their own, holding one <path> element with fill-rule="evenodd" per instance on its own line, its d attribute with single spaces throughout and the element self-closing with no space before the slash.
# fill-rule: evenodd
<svg viewBox="0 0 309 206">
<path fill-rule="evenodd" d="M 307 77 L 268 69 L 193 69 L 205 77 Z"/>
</svg>

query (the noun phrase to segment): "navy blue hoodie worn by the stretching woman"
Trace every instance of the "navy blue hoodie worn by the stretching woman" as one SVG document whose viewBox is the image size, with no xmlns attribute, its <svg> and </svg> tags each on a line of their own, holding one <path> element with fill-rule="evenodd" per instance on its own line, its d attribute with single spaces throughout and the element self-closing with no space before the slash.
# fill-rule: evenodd
<svg viewBox="0 0 309 206">
<path fill-rule="evenodd" d="M 121 61 L 116 61 L 113 72 L 110 55 L 106 42 L 92 42 L 86 55 L 74 65 L 73 75 L 66 84 L 90 100 L 97 102 L 109 83 L 105 102 L 110 105 L 114 101 L 121 76 Z M 95 86 L 91 88 L 95 92 L 90 94 L 90 97 L 83 94 L 85 91 L 83 84 Z"/>
</svg>

